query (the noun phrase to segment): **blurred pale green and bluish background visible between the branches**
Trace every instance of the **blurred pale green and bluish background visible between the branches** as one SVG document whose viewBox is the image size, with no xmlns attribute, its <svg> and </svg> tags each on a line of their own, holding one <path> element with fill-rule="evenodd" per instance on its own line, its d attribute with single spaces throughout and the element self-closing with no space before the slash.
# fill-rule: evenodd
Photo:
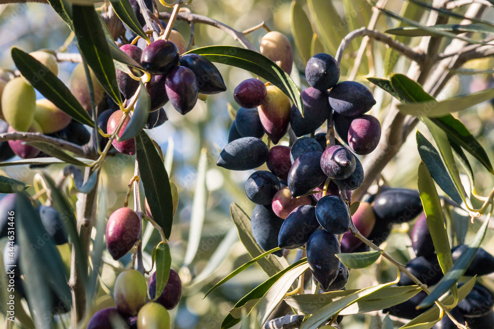
<svg viewBox="0 0 494 329">
<path fill-rule="evenodd" d="M 307 44 L 312 44 L 311 51 L 334 50 L 334 45 L 339 44 L 341 37 L 346 35 L 347 31 L 366 26 L 369 22 L 372 8 L 364 0 L 335 0 L 331 1 L 337 10 L 341 24 L 336 26 L 329 25 L 328 29 L 333 28 L 332 32 L 335 37 L 331 40 L 332 46 L 327 48 L 317 44 L 317 36 L 312 40 L 306 40 Z M 305 12 L 309 12 L 308 5 L 305 1 L 297 1 Z M 406 11 L 406 4 L 409 9 Z M 224 22 L 238 31 L 246 30 L 262 21 L 265 21 L 271 30 L 280 31 L 287 35 L 292 41 L 295 57 L 295 65 L 298 70 L 293 70 L 292 76 L 294 81 L 303 90 L 307 87 L 306 83 L 301 82 L 303 78 L 300 75 L 304 73 L 304 59 L 297 52 L 293 41 L 291 22 L 291 0 L 194 0 L 192 5 L 188 6 L 192 12 L 211 17 Z M 415 8 L 412 8 L 415 7 Z M 169 10 L 159 6 L 160 11 Z M 386 8 L 396 13 L 410 15 L 420 21 L 420 17 L 426 11 L 417 7 L 415 4 L 396 0 L 388 1 Z M 310 15 L 310 14 L 309 14 Z M 425 16 L 425 15 L 424 15 Z M 491 20 L 494 18 L 492 7 L 484 15 L 484 19 Z M 422 18 L 422 21 L 424 19 Z M 453 20 L 454 22 L 454 20 Z M 298 26 L 299 22 L 294 23 L 295 32 L 297 29 L 306 29 L 307 27 Z M 384 32 L 387 29 L 399 26 L 400 22 L 392 20 L 385 16 L 380 16 L 376 30 Z M 177 21 L 175 28 L 188 40 L 190 36 L 190 27 L 185 22 Z M 248 39 L 254 46 L 259 46 L 260 38 L 266 33 L 264 29 L 256 30 L 247 35 Z M 56 15 L 56 13 L 45 4 L 0 4 L 0 67 L 13 69 L 13 63 L 10 58 L 10 45 L 15 45 L 30 52 L 42 48 L 56 50 L 61 47 L 70 31 L 65 23 Z M 127 33 L 128 35 L 128 33 Z M 338 38 L 339 36 L 339 38 Z M 405 41 L 405 40 L 402 40 Z M 410 41 L 412 46 L 420 42 L 420 38 L 413 38 Z M 445 39 L 445 43 L 450 40 Z M 353 49 L 349 49 L 345 54 L 345 61 L 353 65 L 355 52 L 360 46 L 361 38 L 357 38 Z M 206 46 L 213 44 L 238 45 L 235 40 L 224 32 L 207 25 L 196 24 L 195 26 L 195 46 Z M 446 44 L 445 44 L 446 45 Z M 72 43 L 68 52 L 77 52 L 77 47 Z M 319 51 L 318 51 L 319 52 Z M 371 42 L 368 47 L 363 64 L 360 67 L 356 80 L 366 83 L 365 76 L 386 77 L 386 63 L 389 62 L 389 50 L 382 44 Z M 335 55 L 331 53 L 331 55 Z M 69 83 L 70 74 L 76 64 L 60 63 L 58 76 L 66 83 Z M 410 62 L 404 57 L 398 57 L 396 65 L 392 72 L 406 73 Z M 471 69 L 490 69 L 493 67 L 493 61 L 480 60 L 470 62 L 468 68 Z M 162 126 L 150 131 L 150 135 L 162 147 L 164 153 L 173 155 L 171 165 L 167 163 L 167 170 L 171 181 L 174 182 L 179 191 L 180 201 L 178 211 L 174 218 L 172 235 L 170 238 L 170 247 L 172 252 L 172 268 L 180 270 L 180 275 L 184 285 L 184 293 L 179 306 L 174 309 L 172 318 L 175 319 L 175 328 L 219 328 L 220 324 L 233 307 L 233 305 L 247 292 L 264 281 L 267 276 L 257 266 L 252 266 L 248 270 L 224 284 L 220 289 L 214 291 L 203 299 L 205 292 L 221 278 L 229 274 L 233 269 L 242 265 L 250 259 L 242 243 L 238 239 L 236 228 L 230 219 L 229 205 L 231 202 L 239 204 L 247 214 L 253 209 L 244 192 L 244 183 L 251 172 L 231 172 L 215 166 L 216 158 L 221 150 L 227 144 L 228 130 L 232 123 L 232 113 L 238 109 L 233 101 L 233 90 L 238 83 L 244 79 L 250 78 L 251 73 L 232 68 L 224 65 L 218 65 L 225 82 L 228 86 L 226 93 L 209 96 L 206 102 L 198 102 L 195 109 L 189 115 L 182 116 L 173 110 L 170 104 L 167 104 L 165 110 L 169 120 Z M 351 67 L 350 67 L 351 69 Z M 343 69 L 342 73 L 349 71 Z M 347 72 L 348 74 L 349 72 Z M 389 72 L 388 72 L 389 73 Z M 341 77 L 345 79 L 344 74 Z M 447 88 L 439 98 L 456 94 L 466 94 L 488 87 L 494 86 L 492 75 L 462 75 L 451 80 Z M 371 86 L 373 88 L 374 86 Z M 379 88 L 373 88 L 374 97 L 377 101 L 376 106 L 372 109 L 373 115 L 377 116 L 381 122 L 386 114 L 386 109 L 390 104 L 391 97 Z M 41 95 L 38 94 L 38 97 Z M 486 148 L 491 159 L 494 152 L 494 103 L 485 103 L 474 109 L 463 111 L 459 118 L 472 131 L 474 136 Z M 422 126 L 418 129 L 425 133 Z M 288 145 L 288 139 L 281 142 Z M 206 150 L 206 158 L 200 162 L 201 149 Z M 393 187 L 410 187 L 416 188 L 416 173 L 420 157 L 418 156 L 414 134 L 411 134 L 397 157 L 382 172 L 382 178 Z M 206 166 L 205 166 L 206 163 Z M 472 161 L 474 172 L 476 174 L 477 193 L 486 195 L 494 185 L 492 175 L 481 168 L 481 165 Z M 104 165 L 102 172 L 102 182 L 106 187 L 107 198 L 107 218 L 116 209 L 123 206 L 127 184 L 133 176 L 133 157 L 117 155 L 109 158 Z M 51 165 L 43 169 L 56 177 L 62 166 Z M 27 167 L 7 167 L 5 173 L 15 179 L 23 182 L 32 182 L 36 170 L 30 170 Z M 204 178 L 204 181 L 202 181 Z M 201 186 L 206 186 L 206 195 L 198 197 L 196 203 L 202 207 L 204 203 L 204 224 L 202 224 L 201 211 L 198 218 L 191 224 L 192 207 L 195 191 Z M 33 192 L 32 189 L 30 189 Z M 75 188 L 71 190 L 75 196 Z M 202 199 L 202 200 L 201 200 Z M 75 201 L 75 199 L 74 199 Z M 132 200 L 130 200 L 132 207 Z M 451 224 L 459 223 L 459 219 L 464 214 L 453 213 Z M 464 218 L 463 221 L 465 222 Z M 411 258 L 411 241 L 407 233 L 409 224 L 405 223 L 395 229 L 391 239 L 386 243 L 386 250 L 397 260 L 406 262 Z M 476 231 L 480 223 L 476 221 L 470 233 Z M 96 225 L 97 227 L 97 225 Z M 458 226 L 455 226 L 458 229 Z M 96 230 L 96 229 L 95 229 Z M 145 267 L 151 267 L 152 247 L 160 241 L 158 233 L 154 230 L 144 229 L 144 240 L 148 244 L 144 249 Z M 150 234 L 152 232 L 152 234 Z M 468 233 L 468 234 L 470 234 Z M 494 252 L 492 244 L 492 232 L 488 232 L 484 248 L 491 253 Z M 96 234 L 93 232 L 93 237 Z M 467 240 L 470 235 L 467 235 Z M 462 236 L 456 240 L 461 242 Z M 191 240 L 191 241 L 189 241 Z M 193 259 L 188 259 L 186 255 L 187 246 L 197 245 L 197 253 L 194 256 L 194 250 L 190 253 Z M 5 242 L 0 242 L 3 249 Z M 455 243 L 456 244 L 456 243 Z M 60 247 L 60 252 L 67 263 L 70 262 L 69 249 L 66 246 Z M 288 259 L 296 257 L 295 251 L 291 252 Z M 187 259 L 186 259 L 187 258 Z M 191 258 L 191 256 L 189 256 Z M 107 253 L 103 255 L 105 265 L 101 275 L 101 285 L 98 296 L 95 299 L 92 313 L 111 306 L 113 299 L 109 296 L 114 281 L 118 273 L 129 266 L 131 255 L 128 254 L 121 259 L 122 264 L 114 261 Z M 182 267 L 184 259 L 186 267 Z M 396 269 L 388 263 L 382 261 L 376 266 L 363 270 L 352 270 L 350 281 L 347 289 L 368 287 L 377 282 L 386 282 L 394 280 Z M 485 284 L 491 289 L 494 283 L 489 278 L 484 279 Z M 69 315 L 63 315 L 62 319 L 70 323 Z M 343 320 L 342 328 L 374 328 L 372 327 L 372 316 L 347 316 Z M 3 322 L 3 321 L 2 321 Z M 365 324 L 364 324 L 365 323 Z"/>
</svg>

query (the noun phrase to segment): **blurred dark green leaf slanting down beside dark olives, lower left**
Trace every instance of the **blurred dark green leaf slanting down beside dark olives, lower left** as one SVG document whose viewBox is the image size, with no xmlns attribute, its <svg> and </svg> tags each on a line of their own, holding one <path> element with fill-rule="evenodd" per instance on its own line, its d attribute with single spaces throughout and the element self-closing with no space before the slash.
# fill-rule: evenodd
<svg viewBox="0 0 494 329">
<path fill-rule="evenodd" d="M 72 208 L 69 200 L 67 200 L 67 198 L 62 194 L 60 189 L 56 187 L 56 184 L 53 181 L 53 179 L 49 175 L 43 172 L 41 172 L 41 176 L 43 177 L 43 180 L 48 187 L 47 193 L 53 202 L 52 206 L 60 214 L 63 227 L 65 228 L 65 231 L 69 234 L 70 241 L 72 242 L 72 246 L 76 252 L 77 262 L 81 264 L 81 268 L 87 268 L 87 258 L 86 256 L 84 256 L 81 240 L 79 239 L 79 232 L 77 230 L 77 219 L 74 213 L 74 209 Z M 86 271 L 82 271 L 81 277 L 82 277 L 82 282 L 85 284 L 87 280 Z"/>
</svg>

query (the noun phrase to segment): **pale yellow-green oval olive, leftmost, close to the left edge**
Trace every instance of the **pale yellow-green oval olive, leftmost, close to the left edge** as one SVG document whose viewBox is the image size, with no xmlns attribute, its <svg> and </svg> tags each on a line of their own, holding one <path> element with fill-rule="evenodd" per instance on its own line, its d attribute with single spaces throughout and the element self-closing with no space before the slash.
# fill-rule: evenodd
<svg viewBox="0 0 494 329">
<path fill-rule="evenodd" d="M 8 81 L 1 95 L 1 108 L 5 121 L 17 131 L 28 131 L 34 120 L 36 92 L 23 78 Z"/>
</svg>

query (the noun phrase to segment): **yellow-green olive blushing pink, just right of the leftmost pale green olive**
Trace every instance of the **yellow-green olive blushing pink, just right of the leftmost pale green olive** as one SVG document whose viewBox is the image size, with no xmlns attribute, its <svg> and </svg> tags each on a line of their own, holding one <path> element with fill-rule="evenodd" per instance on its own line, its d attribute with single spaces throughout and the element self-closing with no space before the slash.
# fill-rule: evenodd
<svg viewBox="0 0 494 329">
<path fill-rule="evenodd" d="M 72 118 L 47 99 L 39 99 L 36 101 L 34 120 L 43 134 L 52 134 L 67 127 Z"/>
</svg>

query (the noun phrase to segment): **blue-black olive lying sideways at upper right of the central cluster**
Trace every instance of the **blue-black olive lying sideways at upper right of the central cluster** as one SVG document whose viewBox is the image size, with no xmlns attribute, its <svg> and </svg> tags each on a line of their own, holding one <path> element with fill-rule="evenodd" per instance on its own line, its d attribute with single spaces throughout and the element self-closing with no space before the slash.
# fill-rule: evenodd
<svg viewBox="0 0 494 329">
<path fill-rule="evenodd" d="M 361 83 L 343 81 L 329 92 L 331 109 L 344 116 L 359 116 L 375 105 L 371 91 Z"/>
</svg>

